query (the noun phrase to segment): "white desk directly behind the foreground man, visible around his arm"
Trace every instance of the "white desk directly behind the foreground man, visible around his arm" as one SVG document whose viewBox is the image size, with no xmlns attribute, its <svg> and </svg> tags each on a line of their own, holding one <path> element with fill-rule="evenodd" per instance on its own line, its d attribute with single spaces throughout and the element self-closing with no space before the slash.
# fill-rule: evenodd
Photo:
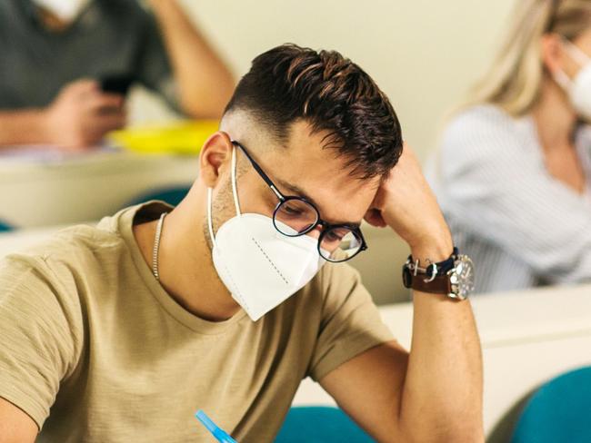
<svg viewBox="0 0 591 443">
<path fill-rule="evenodd" d="M 0 257 L 43 240 L 56 228 L 0 234 Z M 489 432 L 518 399 L 568 369 L 591 365 L 591 285 L 475 296 L 471 300 L 483 346 L 485 427 Z M 412 304 L 380 307 L 408 349 Z M 334 404 L 310 379 L 295 404 Z"/>
</svg>

